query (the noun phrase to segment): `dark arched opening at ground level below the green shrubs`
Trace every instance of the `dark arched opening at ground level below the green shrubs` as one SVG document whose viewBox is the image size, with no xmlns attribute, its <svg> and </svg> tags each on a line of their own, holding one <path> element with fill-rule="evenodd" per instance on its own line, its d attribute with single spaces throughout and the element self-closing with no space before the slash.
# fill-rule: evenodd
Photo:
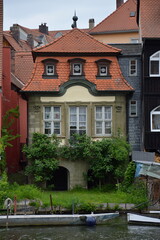
<svg viewBox="0 0 160 240">
<path fill-rule="evenodd" d="M 47 188 L 56 191 L 67 191 L 69 189 L 69 171 L 64 167 L 59 167 L 53 173 L 53 178 L 47 181 Z"/>
</svg>

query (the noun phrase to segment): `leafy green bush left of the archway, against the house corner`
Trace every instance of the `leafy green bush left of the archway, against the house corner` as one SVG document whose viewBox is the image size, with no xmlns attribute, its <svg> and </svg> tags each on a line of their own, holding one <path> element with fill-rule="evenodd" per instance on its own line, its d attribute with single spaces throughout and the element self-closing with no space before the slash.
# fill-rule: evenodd
<svg viewBox="0 0 160 240">
<path fill-rule="evenodd" d="M 29 160 L 26 174 L 34 177 L 36 182 L 50 180 L 58 168 L 59 141 L 55 136 L 49 138 L 41 133 L 34 133 L 32 144 L 23 148 Z"/>
</svg>

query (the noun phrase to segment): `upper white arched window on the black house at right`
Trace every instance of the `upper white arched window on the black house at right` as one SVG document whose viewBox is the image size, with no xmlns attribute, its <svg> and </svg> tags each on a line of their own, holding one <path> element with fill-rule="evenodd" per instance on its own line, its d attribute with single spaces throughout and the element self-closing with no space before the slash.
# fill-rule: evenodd
<svg viewBox="0 0 160 240">
<path fill-rule="evenodd" d="M 160 76 L 160 51 L 150 56 L 150 76 Z"/>
</svg>

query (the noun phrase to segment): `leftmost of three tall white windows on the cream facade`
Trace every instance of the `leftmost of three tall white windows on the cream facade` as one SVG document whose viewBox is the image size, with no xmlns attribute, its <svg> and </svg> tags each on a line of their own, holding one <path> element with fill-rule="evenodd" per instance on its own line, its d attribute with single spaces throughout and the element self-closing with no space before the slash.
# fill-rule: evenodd
<svg viewBox="0 0 160 240">
<path fill-rule="evenodd" d="M 61 134 L 61 108 L 59 106 L 44 107 L 44 133 Z"/>
</svg>

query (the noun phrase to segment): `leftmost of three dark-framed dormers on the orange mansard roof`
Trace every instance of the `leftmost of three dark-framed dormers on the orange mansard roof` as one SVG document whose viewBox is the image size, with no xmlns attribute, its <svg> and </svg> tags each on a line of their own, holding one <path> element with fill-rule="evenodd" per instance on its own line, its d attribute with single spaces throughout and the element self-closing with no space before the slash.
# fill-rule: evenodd
<svg viewBox="0 0 160 240">
<path fill-rule="evenodd" d="M 42 61 L 44 64 L 43 78 L 58 78 L 57 75 L 57 63 L 56 59 L 45 59 Z"/>
</svg>

